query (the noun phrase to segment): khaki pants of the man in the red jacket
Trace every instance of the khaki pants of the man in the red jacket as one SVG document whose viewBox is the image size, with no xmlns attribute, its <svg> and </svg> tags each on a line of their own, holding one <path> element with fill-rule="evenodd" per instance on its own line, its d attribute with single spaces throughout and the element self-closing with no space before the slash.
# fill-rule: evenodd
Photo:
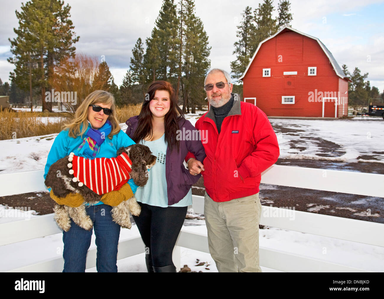
<svg viewBox="0 0 384 299">
<path fill-rule="evenodd" d="M 259 266 L 259 194 L 222 203 L 205 192 L 208 245 L 218 272 L 262 272 Z"/>
</svg>

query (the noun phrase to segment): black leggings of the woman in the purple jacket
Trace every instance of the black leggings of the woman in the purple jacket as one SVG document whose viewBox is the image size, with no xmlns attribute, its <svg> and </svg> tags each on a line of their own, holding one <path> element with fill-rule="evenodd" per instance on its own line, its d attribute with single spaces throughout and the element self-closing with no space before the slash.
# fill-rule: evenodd
<svg viewBox="0 0 384 299">
<path fill-rule="evenodd" d="M 173 265 L 172 251 L 183 226 L 188 207 L 150 206 L 140 203 L 141 213 L 132 216 L 146 246 L 146 259 L 154 267 Z"/>
</svg>

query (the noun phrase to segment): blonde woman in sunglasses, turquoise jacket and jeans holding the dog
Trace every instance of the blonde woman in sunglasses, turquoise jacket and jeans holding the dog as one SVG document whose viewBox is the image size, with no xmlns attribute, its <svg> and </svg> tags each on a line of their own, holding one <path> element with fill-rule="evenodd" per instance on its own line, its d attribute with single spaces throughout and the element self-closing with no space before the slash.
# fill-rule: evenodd
<svg viewBox="0 0 384 299">
<path fill-rule="evenodd" d="M 115 101 L 111 93 L 103 90 L 90 93 L 76 110 L 73 121 L 65 125 L 63 131 L 55 138 L 48 154 L 44 178 L 51 164 L 71 152 L 88 159 L 112 158 L 116 157 L 116 151 L 120 147 L 134 144 L 131 138 L 121 131 L 114 110 Z M 133 194 L 129 184 L 125 184 L 119 191 L 104 194 L 99 203 L 88 205 L 86 208 L 96 235 L 98 272 L 117 272 L 120 226 L 112 219 L 112 207 L 106 204 L 108 198 L 116 196 L 117 193 L 124 194 L 126 198 Z M 51 197 L 59 204 L 73 207 L 83 203 L 79 194 L 71 193 L 66 198 L 57 198 L 51 191 Z M 71 219 L 71 228 L 68 232 L 63 231 L 63 272 L 85 271 L 91 236 L 92 230 L 86 231 Z"/>
</svg>

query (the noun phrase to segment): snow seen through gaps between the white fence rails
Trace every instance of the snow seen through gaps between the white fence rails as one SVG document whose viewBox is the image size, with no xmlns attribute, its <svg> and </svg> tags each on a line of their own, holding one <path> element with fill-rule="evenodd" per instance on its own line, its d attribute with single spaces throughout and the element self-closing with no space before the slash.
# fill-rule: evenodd
<svg viewBox="0 0 384 299">
<path fill-rule="evenodd" d="M 1 206 L 0 206 L 1 207 Z M 4 208 L 4 207 L 1 207 Z M 1 214 L 0 214 L 1 215 Z M 19 215 L 20 216 L 20 215 Z M 35 217 L 39 217 L 36 216 Z M 0 223 L 25 219 L 20 217 L 1 217 Z M 28 220 L 26 220 L 28 221 Z M 183 230 L 207 234 L 207 228 L 203 225 L 183 226 Z M 384 271 L 384 248 L 351 241 L 344 241 L 313 234 L 288 231 L 286 229 L 271 228 L 259 229 L 260 247 L 291 252 L 294 254 L 333 262 L 358 269 L 374 272 Z M 120 240 L 139 236 L 137 226 L 129 229 L 121 229 Z M 18 267 L 33 264 L 38 261 L 62 256 L 62 234 L 54 234 L 43 238 L 32 239 L 14 244 L 0 246 L 0 272 L 17 269 Z M 90 249 L 96 248 L 95 236 L 91 239 Z M 27 249 L 27 250 L 26 250 Z M 208 262 L 209 270 L 205 266 L 195 266 L 197 259 L 200 262 Z M 192 271 L 217 272 L 215 262 L 209 253 L 200 252 L 188 248 L 181 248 L 181 267 L 187 264 Z M 144 253 L 127 257 L 118 261 L 119 272 L 146 272 Z M 262 267 L 264 272 L 276 271 Z M 86 272 L 96 272 L 96 268 L 87 269 Z"/>
</svg>

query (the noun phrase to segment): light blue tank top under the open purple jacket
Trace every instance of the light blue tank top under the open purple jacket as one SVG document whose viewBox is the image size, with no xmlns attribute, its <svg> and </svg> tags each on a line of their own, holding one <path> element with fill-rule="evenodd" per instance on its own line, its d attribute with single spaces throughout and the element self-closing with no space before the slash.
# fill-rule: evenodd
<svg viewBox="0 0 384 299">
<path fill-rule="evenodd" d="M 141 140 L 139 143 L 148 146 L 157 159 L 155 165 L 149 170 L 147 184 L 144 187 L 137 187 L 135 197 L 137 201 L 141 203 L 166 208 L 168 206 L 168 195 L 166 180 L 167 143 L 165 141 L 165 134 L 157 140 Z M 172 204 L 172 207 L 185 207 L 190 204 L 192 204 L 191 188 L 187 195 L 185 195 L 178 203 Z"/>
</svg>

